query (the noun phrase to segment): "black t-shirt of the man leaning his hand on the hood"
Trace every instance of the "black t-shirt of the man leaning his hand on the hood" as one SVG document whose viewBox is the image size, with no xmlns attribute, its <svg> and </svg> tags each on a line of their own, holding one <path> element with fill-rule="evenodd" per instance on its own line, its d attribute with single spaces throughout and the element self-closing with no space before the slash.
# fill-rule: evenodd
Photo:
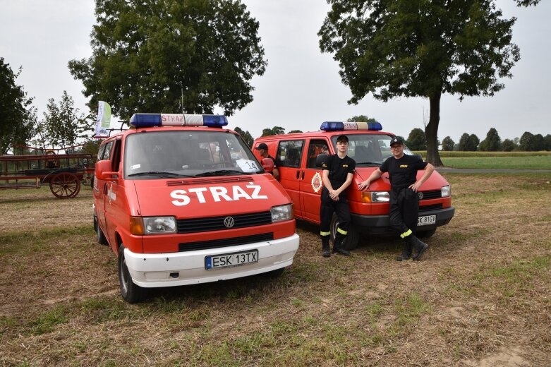
<svg viewBox="0 0 551 367">
<path fill-rule="evenodd" d="M 382 162 L 379 169 L 381 172 L 388 172 L 391 187 L 399 189 L 415 183 L 417 181 L 417 171 L 425 169 L 427 164 L 416 155 L 404 155 L 399 160 L 392 156 Z"/>
</svg>

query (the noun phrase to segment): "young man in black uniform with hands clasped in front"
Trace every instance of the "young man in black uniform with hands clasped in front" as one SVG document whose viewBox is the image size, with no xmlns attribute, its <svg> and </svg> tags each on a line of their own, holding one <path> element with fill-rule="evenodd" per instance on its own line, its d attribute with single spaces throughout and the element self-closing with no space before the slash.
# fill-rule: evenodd
<svg viewBox="0 0 551 367">
<path fill-rule="evenodd" d="M 329 155 L 322 163 L 322 204 L 320 207 L 320 236 L 322 238 L 322 255 L 328 258 L 329 238 L 331 237 L 331 219 L 333 213 L 339 217 L 339 226 L 335 233 L 333 252 L 349 256 L 341 245 L 350 225 L 350 207 L 346 200 L 346 188 L 352 183 L 356 161 L 346 155 L 349 149 L 349 138 L 341 135 L 337 138 L 337 154 Z"/>
</svg>

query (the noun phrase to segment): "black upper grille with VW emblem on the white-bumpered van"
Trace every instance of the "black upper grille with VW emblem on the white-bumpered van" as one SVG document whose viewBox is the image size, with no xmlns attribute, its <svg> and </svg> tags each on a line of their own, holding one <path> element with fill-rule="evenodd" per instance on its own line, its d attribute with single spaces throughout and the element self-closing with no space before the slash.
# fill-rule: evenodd
<svg viewBox="0 0 551 367">
<path fill-rule="evenodd" d="M 243 227 L 255 227 L 262 224 L 271 224 L 272 223 L 272 213 L 271 212 L 258 212 L 250 214 L 240 214 L 240 215 L 224 215 L 220 217 L 206 217 L 206 218 L 195 218 L 195 219 L 177 219 L 176 224 L 178 226 L 178 233 L 194 233 L 194 232 L 205 232 L 205 231 L 222 231 L 228 229 L 224 225 L 224 219 L 227 217 L 234 218 L 235 224 L 234 228 L 243 228 Z"/>
</svg>

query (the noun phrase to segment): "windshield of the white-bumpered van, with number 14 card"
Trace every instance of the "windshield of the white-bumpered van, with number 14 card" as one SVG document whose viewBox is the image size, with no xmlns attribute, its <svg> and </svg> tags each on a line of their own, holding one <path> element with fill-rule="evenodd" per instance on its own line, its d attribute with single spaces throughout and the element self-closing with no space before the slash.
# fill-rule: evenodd
<svg viewBox="0 0 551 367">
<path fill-rule="evenodd" d="M 126 179 L 257 174 L 262 165 L 226 131 L 147 131 L 126 138 Z"/>
</svg>

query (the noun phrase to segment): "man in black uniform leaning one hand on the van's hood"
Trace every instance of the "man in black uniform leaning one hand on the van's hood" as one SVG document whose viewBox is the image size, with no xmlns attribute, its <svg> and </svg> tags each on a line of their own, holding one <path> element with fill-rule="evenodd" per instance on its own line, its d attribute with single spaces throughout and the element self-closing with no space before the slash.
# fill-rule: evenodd
<svg viewBox="0 0 551 367">
<path fill-rule="evenodd" d="M 365 190 L 370 183 L 379 179 L 383 172 L 389 173 L 390 179 L 390 211 L 389 221 L 402 239 L 404 239 L 404 251 L 396 258 L 398 261 L 419 260 L 428 244 L 416 237 L 417 218 L 419 215 L 419 198 L 417 191 L 423 182 L 427 181 L 435 167 L 415 155 L 404 155 L 404 142 L 401 138 L 394 137 L 390 140 L 392 157 L 388 157 L 381 166 L 358 185 L 360 190 Z M 417 179 L 417 171 L 425 169 L 425 173 Z"/>
</svg>

